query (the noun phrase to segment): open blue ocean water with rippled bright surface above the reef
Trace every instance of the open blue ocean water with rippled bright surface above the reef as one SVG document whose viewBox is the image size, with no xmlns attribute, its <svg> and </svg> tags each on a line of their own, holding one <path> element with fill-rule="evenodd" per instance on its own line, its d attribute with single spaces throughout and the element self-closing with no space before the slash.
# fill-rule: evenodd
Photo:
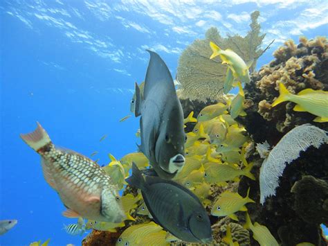
<svg viewBox="0 0 328 246">
<path fill-rule="evenodd" d="M 108 153 L 136 150 L 138 119 L 119 120 L 130 114 L 134 82 L 145 78 L 145 49 L 158 52 L 174 77 L 183 49 L 210 26 L 245 35 L 250 12 L 259 10 L 265 43 L 275 39 L 261 67 L 286 39 L 327 35 L 327 8 L 325 1 L 1 1 L 0 220 L 19 222 L 0 245 L 48 238 L 80 245 L 83 238 L 62 229 L 75 220 L 62 216 L 39 156 L 19 138 L 36 121 L 58 146 L 98 151 L 93 159 L 107 164 Z"/>
</svg>

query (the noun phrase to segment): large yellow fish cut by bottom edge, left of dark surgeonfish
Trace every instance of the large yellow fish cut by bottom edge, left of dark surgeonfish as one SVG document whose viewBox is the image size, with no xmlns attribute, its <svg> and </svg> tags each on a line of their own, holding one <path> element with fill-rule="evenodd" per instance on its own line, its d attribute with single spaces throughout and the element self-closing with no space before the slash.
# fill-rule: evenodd
<svg viewBox="0 0 328 246">
<path fill-rule="evenodd" d="M 120 238 L 116 241 L 116 246 L 120 245 L 140 245 L 141 240 L 163 228 L 154 222 L 139 225 L 131 225 L 122 232 Z"/>
</svg>

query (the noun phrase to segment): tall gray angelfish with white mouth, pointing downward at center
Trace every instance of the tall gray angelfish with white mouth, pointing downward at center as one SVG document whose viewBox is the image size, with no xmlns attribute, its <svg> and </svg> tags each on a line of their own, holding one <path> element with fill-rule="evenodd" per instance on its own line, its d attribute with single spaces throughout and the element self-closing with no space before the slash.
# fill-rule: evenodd
<svg viewBox="0 0 328 246">
<path fill-rule="evenodd" d="M 172 179 L 185 164 L 183 111 L 169 69 L 152 52 L 141 96 L 136 84 L 135 116 L 140 118 L 140 150 L 156 173 Z"/>
</svg>

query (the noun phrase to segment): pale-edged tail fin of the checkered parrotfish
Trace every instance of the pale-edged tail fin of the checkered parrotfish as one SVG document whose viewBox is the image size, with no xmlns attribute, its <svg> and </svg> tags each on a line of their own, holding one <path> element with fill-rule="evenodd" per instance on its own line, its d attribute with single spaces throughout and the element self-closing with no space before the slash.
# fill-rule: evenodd
<svg viewBox="0 0 328 246">
<path fill-rule="evenodd" d="M 35 151 L 51 143 L 48 133 L 46 133 L 46 130 L 42 128 L 39 122 L 37 122 L 37 129 L 35 129 L 34 132 L 20 134 L 20 137 L 25 143 L 28 144 L 28 146 L 30 146 L 30 148 L 33 148 Z"/>
</svg>

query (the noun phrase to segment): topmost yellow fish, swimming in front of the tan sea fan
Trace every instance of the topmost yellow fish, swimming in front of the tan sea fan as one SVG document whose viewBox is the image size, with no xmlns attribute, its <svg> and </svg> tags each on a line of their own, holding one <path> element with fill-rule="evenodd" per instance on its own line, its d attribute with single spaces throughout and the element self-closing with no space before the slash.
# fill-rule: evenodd
<svg viewBox="0 0 328 246">
<path fill-rule="evenodd" d="M 228 69 L 232 71 L 234 78 L 242 81 L 243 83 L 250 82 L 248 69 L 251 65 L 251 62 L 246 64 L 244 60 L 239 55 L 237 55 L 237 53 L 230 49 L 223 51 L 219 48 L 219 46 L 217 46 L 217 44 L 213 42 L 210 42 L 210 48 L 213 51 L 210 59 L 213 59 L 219 55 L 222 60 L 222 64 L 228 64 Z"/>
</svg>

